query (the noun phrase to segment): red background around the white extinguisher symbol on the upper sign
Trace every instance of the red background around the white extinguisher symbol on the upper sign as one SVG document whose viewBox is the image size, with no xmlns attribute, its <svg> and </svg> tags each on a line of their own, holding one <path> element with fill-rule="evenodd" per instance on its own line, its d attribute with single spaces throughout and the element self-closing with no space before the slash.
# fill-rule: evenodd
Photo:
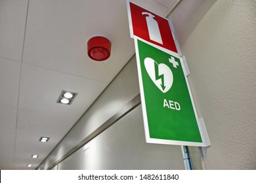
<svg viewBox="0 0 256 183">
<path fill-rule="evenodd" d="M 177 48 L 173 40 L 173 35 L 171 34 L 168 20 L 131 2 L 129 2 L 129 4 L 131 8 L 131 20 L 133 22 L 133 35 L 177 53 Z M 146 16 L 142 15 L 142 12 L 150 12 L 155 16 L 154 19 L 158 22 L 163 44 L 150 40 L 148 25 L 146 24 Z"/>
</svg>

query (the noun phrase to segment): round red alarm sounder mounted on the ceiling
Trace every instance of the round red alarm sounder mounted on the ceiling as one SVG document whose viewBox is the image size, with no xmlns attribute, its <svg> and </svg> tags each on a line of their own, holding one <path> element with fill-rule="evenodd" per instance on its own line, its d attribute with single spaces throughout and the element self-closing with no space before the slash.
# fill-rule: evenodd
<svg viewBox="0 0 256 183">
<path fill-rule="evenodd" d="M 87 42 L 87 54 L 96 61 L 104 61 L 110 57 L 111 42 L 106 37 L 96 36 Z"/>
</svg>

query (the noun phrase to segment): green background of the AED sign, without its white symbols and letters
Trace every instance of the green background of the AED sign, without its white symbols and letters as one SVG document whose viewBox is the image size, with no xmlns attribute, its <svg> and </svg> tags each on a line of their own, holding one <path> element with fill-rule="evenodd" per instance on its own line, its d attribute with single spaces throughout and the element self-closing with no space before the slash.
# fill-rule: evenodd
<svg viewBox="0 0 256 183">
<path fill-rule="evenodd" d="M 174 68 L 173 64 L 169 63 L 170 54 L 140 40 L 138 48 L 150 138 L 202 142 L 179 58 L 173 56 L 179 63 L 179 66 Z M 152 58 L 158 64 L 165 63 L 171 69 L 173 85 L 168 92 L 161 92 L 151 80 L 144 66 L 145 58 Z M 163 107 L 164 99 L 178 102 L 181 110 Z"/>
</svg>

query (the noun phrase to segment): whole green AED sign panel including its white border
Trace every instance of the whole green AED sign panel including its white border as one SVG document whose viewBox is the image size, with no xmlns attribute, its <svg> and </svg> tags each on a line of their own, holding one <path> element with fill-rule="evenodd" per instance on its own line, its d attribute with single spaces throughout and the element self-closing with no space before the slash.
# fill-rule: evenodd
<svg viewBox="0 0 256 183">
<path fill-rule="evenodd" d="M 135 37 L 146 141 L 204 146 L 182 59 Z"/>
</svg>

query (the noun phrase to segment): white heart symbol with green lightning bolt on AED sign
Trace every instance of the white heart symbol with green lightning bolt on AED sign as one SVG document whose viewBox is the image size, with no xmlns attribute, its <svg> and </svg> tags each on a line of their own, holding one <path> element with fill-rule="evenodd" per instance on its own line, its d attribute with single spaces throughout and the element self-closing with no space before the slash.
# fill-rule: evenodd
<svg viewBox="0 0 256 183">
<path fill-rule="evenodd" d="M 168 92 L 173 85 L 173 72 L 171 72 L 171 69 L 164 63 L 156 63 L 152 58 L 145 58 L 144 65 L 148 75 L 159 90 L 163 93 Z"/>
</svg>

